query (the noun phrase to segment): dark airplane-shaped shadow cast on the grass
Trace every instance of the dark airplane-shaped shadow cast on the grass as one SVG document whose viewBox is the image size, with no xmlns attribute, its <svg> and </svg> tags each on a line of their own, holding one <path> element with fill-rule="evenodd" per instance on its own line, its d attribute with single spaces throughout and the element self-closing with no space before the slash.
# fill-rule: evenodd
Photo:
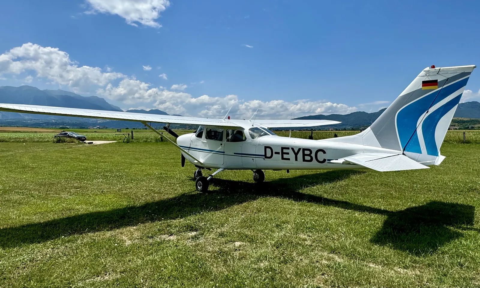
<svg viewBox="0 0 480 288">
<path fill-rule="evenodd" d="M 0 247 L 11 248 L 42 243 L 61 236 L 115 230 L 162 219 L 183 218 L 202 211 L 223 210 L 260 197 L 280 197 L 385 215 L 382 228 L 371 238 L 371 242 L 388 245 L 413 255 L 432 254 L 444 244 L 462 237 L 461 230 L 476 230 L 472 227 L 475 207 L 470 205 L 432 201 L 405 210 L 390 211 L 300 192 L 303 188 L 342 181 L 361 173 L 364 172 L 327 171 L 277 179 L 259 185 L 216 178 L 214 185 L 219 189 L 215 192 L 186 193 L 140 206 L 89 212 L 46 222 L 2 228 Z M 224 197 L 216 197 L 221 194 Z"/>
</svg>

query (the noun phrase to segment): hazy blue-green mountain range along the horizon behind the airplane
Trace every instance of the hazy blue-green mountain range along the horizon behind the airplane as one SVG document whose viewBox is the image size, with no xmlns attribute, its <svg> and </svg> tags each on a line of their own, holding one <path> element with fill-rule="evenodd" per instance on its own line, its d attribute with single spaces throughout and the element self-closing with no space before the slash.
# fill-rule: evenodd
<svg viewBox="0 0 480 288">
<path fill-rule="evenodd" d="M 32 86 L 1 86 L 0 87 L 0 103 L 12 104 L 30 104 L 30 105 L 45 105 L 68 108 L 83 108 L 94 110 L 107 111 L 123 111 L 119 107 L 108 103 L 105 99 L 98 96 L 81 96 L 70 91 L 65 90 L 40 90 Z M 363 128 L 370 126 L 385 109 L 377 112 L 353 112 L 350 114 L 330 114 L 330 115 L 310 115 L 299 117 L 295 119 L 304 120 L 335 120 L 342 123 L 335 126 L 336 129 L 342 128 Z M 158 115 L 169 115 L 165 111 L 158 109 L 142 110 L 132 109 L 127 112 L 132 113 L 147 113 Z M 175 114 L 174 114 L 175 115 Z M 180 116 L 180 115 L 179 115 Z M 480 103 L 477 101 L 464 102 L 458 104 L 454 117 L 459 118 L 476 118 L 480 119 Z M 454 118 L 455 122 L 455 118 Z M 480 122 L 480 121 L 473 121 Z M 465 123 L 465 120 L 462 120 Z M 144 125 L 138 122 L 130 121 L 112 121 L 102 119 L 66 117 L 66 116 L 49 116 L 36 115 L 12 112 L 0 112 L 0 126 L 36 126 L 36 127 L 89 127 L 89 126 L 104 126 L 108 128 L 142 128 Z M 185 126 L 185 125 L 183 125 Z M 179 126 L 179 127 L 183 127 Z M 192 128 L 192 127 L 189 127 Z M 325 129 L 329 127 L 321 126 L 318 129 Z"/>
</svg>

